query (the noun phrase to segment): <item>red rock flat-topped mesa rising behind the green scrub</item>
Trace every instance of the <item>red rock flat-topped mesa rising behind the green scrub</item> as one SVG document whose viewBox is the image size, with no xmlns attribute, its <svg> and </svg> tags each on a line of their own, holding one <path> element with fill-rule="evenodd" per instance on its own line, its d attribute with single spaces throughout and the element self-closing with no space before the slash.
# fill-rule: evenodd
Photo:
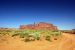
<svg viewBox="0 0 75 50">
<path fill-rule="evenodd" d="M 54 26 L 53 24 L 40 22 L 37 24 L 29 24 L 29 25 L 20 25 L 20 29 L 33 29 L 33 30 L 58 30 L 57 26 Z"/>
</svg>

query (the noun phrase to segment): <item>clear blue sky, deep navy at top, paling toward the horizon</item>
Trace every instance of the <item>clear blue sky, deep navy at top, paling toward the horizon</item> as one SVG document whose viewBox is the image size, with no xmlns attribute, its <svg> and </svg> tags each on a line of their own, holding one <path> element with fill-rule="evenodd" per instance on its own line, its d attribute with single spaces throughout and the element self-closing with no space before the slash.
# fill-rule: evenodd
<svg viewBox="0 0 75 50">
<path fill-rule="evenodd" d="M 18 28 L 34 22 L 59 29 L 75 28 L 74 0 L 0 0 L 0 27 Z"/>
</svg>

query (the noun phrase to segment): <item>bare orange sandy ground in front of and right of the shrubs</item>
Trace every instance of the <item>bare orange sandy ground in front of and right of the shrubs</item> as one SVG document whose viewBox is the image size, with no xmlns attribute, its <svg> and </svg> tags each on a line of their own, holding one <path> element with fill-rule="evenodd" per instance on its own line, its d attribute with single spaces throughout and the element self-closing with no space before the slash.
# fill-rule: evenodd
<svg viewBox="0 0 75 50">
<path fill-rule="evenodd" d="M 53 42 L 23 42 L 19 38 L 8 38 L 0 43 L 0 50 L 75 50 L 75 34 L 63 33 L 61 39 Z"/>
</svg>

